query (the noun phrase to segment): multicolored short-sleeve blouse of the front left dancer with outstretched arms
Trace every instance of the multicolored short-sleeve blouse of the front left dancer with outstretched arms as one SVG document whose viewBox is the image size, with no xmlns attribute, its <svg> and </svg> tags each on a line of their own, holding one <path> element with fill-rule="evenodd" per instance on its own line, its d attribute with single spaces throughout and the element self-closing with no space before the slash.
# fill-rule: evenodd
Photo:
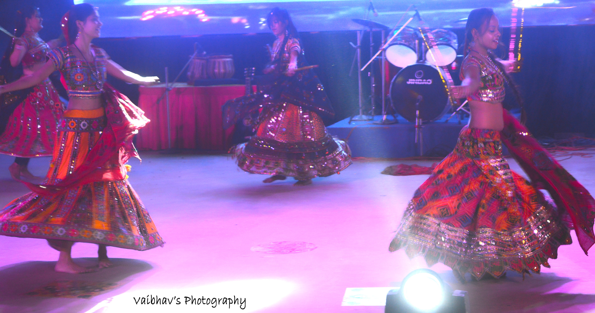
<svg viewBox="0 0 595 313">
<path fill-rule="evenodd" d="M 54 65 L 66 84 L 68 98 L 92 99 L 101 97 L 101 89 L 98 88 L 96 77 L 93 71 L 99 72 L 100 86 L 107 80 L 105 65 L 110 59 L 104 49 L 92 45 L 95 52 L 95 62 L 86 62 L 77 58 L 68 46 L 52 49 L 48 54 L 49 60 Z"/>
</svg>

